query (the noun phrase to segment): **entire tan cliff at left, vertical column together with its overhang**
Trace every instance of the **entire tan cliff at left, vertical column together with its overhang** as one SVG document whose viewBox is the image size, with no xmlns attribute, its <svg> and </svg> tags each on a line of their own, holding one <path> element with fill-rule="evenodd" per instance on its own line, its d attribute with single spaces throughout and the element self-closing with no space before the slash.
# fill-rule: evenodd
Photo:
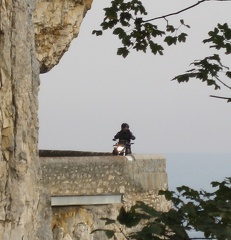
<svg viewBox="0 0 231 240">
<path fill-rule="evenodd" d="M 0 0 L 1 240 L 53 238 L 38 157 L 39 73 L 59 62 L 90 5 Z"/>
</svg>

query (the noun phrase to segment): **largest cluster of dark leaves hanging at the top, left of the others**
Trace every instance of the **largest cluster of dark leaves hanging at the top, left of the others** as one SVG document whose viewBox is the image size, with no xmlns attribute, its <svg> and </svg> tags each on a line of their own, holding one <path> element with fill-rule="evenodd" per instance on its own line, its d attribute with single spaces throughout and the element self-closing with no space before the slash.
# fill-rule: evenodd
<svg viewBox="0 0 231 240">
<path fill-rule="evenodd" d="M 182 26 L 189 27 L 180 20 L 180 25 L 174 27 L 166 20 L 164 29 L 152 24 L 149 20 L 143 20 L 147 11 L 139 0 L 113 0 L 111 6 L 104 8 L 105 17 L 101 23 L 102 30 L 94 30 L 93 34 L 102 35 L 103 31 L 113 29 L 113 34 L 117 35 L 122 43 L 117 54 L 127 57 L 130 49 L 146 52 L 150 49 L 153 54 L 163 55 L 164 47 L 158 43 L 158 38 L 168 46 L 177 42 L 185 42 L 187 34 L 180 31 Z"/>
</svg>

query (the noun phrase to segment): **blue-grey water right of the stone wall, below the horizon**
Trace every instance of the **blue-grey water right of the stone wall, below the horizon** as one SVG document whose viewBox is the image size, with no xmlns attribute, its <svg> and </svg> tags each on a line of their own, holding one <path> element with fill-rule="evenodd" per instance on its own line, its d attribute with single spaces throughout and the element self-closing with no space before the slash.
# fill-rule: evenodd
<svg viewBox="0 0 231 240">
<path fill-rule="evenodd" d="M 231 153 L 165 154 L 170 190 L 186 185 L 196 190 L 212 191 L 212 181 L 223 181 L 231 176 Z"/>
</svg>

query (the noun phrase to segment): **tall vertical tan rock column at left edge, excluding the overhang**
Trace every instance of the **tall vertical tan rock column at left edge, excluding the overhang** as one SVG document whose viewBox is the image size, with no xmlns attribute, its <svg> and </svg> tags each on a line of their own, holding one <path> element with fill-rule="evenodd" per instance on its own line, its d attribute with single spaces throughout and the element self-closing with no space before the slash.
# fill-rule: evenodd
<svg viewBox="0 0 231 240">
<path fill-rule="evenodd" d="M 35 0 L 0 0 L 0 239 L 52 239 L 38 158 Z"/>
</svg>

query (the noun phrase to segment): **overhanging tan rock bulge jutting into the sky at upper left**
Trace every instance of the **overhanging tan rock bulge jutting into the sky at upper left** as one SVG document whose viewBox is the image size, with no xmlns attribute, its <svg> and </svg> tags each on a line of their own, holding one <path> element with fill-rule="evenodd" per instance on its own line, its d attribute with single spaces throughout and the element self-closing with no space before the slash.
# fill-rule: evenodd
<svg viewBox="0 0 231 240">
<path fill-rule="evenodd" d="M 37 0 L 35 43 L 40 73 L 51 70 L 78 36 L 92 0 Z"/>
</svg>

